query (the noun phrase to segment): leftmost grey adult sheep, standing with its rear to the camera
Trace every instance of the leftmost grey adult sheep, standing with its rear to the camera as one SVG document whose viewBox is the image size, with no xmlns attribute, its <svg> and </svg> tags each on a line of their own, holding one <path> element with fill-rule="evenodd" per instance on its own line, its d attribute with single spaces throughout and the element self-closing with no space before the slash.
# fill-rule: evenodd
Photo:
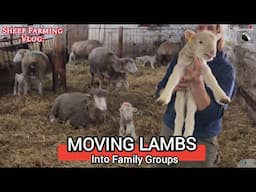
<svg viewBox="0 0 256 192">
<path fill-rule="evenodd" d="M 41 51 L 20 49 L 17 51 L 13 62 L 21 62 L 21 71 L 24 75 L 24 95 L 31 90 L 33 84 L 38 87 L 38 92 L 43 95 L 43 86 L 47 67 L 50 61 L 47 55 Z"/>
</svg>

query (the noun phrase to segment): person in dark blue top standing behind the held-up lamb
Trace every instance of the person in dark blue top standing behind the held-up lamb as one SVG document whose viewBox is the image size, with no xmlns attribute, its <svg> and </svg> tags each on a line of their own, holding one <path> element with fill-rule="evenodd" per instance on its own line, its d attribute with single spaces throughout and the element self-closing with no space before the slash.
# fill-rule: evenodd
<svg viewBox="0 0 256 192">
<path fill-rule="evenodd" d="M 169 137 L 174 135 L 175 127 L 175 100 L 177 92 L 189 90 L 191 96 L 194 98 L 196 105 L 196 112 L 193 115 L 194 125 L 192 134 L 185 134 L 185 136 L 192 135 L 197 138 L 198 144 L 204 144 L 206 146 L 206 161 L 203 162 L 180 162 L 179 167 L 214 167 L 217 162 L 217 136 L 221 133 L 222 119 L 224 110 L 227 109 L 227 103 L 233 98 L 235 93 L 236 75 L 233 66 L 227 61 L 224 52 L 224 36 L 223 28 L 219 24 L 200 24 L 196 27 L 196 33 L 201 31 L 210 31 L 218 37 L 217 41 L 217 53 L 214 58 L 208 60 L 207 66 L 210 68 L 212 75 L 215 77 L 219 88 L 223 91 L 220 95 L 224 98 L 220 98 L 219 94 L 216 94 L 212 88 L 212 85 L 205 83 L 202 78 L 202 71 L 205 66 L 202 59 L 193 57 L 191 64 L 184 63 L 184 72 L 179 78 L 178 82 L 173 82 L 176 86 L 173 91 L 166 97 L 162 93 L 168 86 L 167 82 L 169 77 L 174 72 L 175 66 L 178 62 L 177 55 L 168 66 L 167 72 L 163 79 L 158 83 L 156 90 L 157 101 L 160 103 L 168 104 L 163 118 L 163 126 L 160 132 L 160 136 Z M 192 35 L 188 35 L 188 41 L 192 41 Z M 188 44 L 191 42 L 188 42 Z M 203 43 L 200 40 L 197 43 Z M 206 55 L 207 56 L 207 55 Z M 210 57 L 210 55 L 209 55 Z M 179 58 L 180 59 L 180 58 Z M 179 63 L 180 65 L 180 63 Z M 177 67 L 176 67 L 177 68 Z M 169 83 L 170 84 L 170 83 Z M 208 85 L 207 85 L 208 84 Z M 210 86 L 210 87 L 208 87 Z M 170 85 L 168 86 L 170 88 Z M 166 92 L 166 90 L 165 90 Z M 162 95 L 162 97 L 161 97 Z M 170 97 L 171 96 L 171 97 Z M 225 97 L 226 96 L 226 97 Z M 167 99 L 166 99 L 167 98 Z M 186 112 L 186 111 L 184 111 Z M 188 112 L 188 111 L 187 111 Z M 191 119 L 190 119 L 191 121 Z M 193 121 L 191 121 L 193 122 Z M 182 134 L 185 132 L 185 127 L 182 126 Z M 177 135 L 177 134 L 176 134 Z"/>
</svg>

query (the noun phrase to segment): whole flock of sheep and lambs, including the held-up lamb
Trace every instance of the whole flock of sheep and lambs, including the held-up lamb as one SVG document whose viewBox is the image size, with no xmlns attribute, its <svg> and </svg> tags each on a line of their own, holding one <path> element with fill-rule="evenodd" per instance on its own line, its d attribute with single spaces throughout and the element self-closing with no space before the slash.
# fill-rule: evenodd
<svg viewBox="0 0 256 192">
<path fill-rule="evenodd" d="M 192 47 L 193 44 L 193 51 L 190 50 L 190 53 L 193 52 L 194 55 L 200 56 L 200 58 L 203 58 L 203 61 L 208 60 L 209 55 L 211 56 L 210 59 L 212 59 L 216 54 L 216 42 L 219 37 L 215 37 L 210 32 L 202 32 L 197 35 L 194 35 L 194 32 L 192 32 L 193 31 L 187 30 L 185 35 L 193 36 L 193 39 L 200 39 L 200 42 L 204 41 L 205 45 L 197 45 L 196 40 L 193 41 L 193 43 L 190 41 L 189 47 Z M 188 39 L 188 37 L 186 38 Z M 172 57 L 179 52 L 179 58 L 181 59 L 177 64 L 177 70 L 179 71 L 176 70 L 176 67 L 174 68 L 173 75 L 170 77 L 170 80 L 168 80 L 165 90 L 157 99 L 157 101 L 162 104 L 167 104 L 170 101 L 172 89 L 178 83 L 183 74 L 182 71 L 184 69 L 179 67 L 179 65 L 181 65 L 179 63 L 181 62 L 183 65 L 188 60 L 187 58 L 185 58 L 185 61 L 183 61 L 184 59 L 182 60 L 183 55 L 188 55 L 185 54 L 186 47 L 188 46 L 184 46 L 184 42 L 182 41 L 180 43 L 165 41 L 159 46 L 156 55 L 146 55 L 135 58 L 137 64 L 142 63 L 144 66 L 149 64 L 151 68 L 155 68 L 158 67 L 159 64 L 167 65 Z M 204 58 L 205 55 L 207 55 L 207 59 Z M 59 95 L 51 105 L 49 112 L 50 122 L 54 122 L 55 119 L 69 121 L 70 124 L 76 128 L 86 127 L 89 123 L 104 122 L 106 120 L 106 97 L 108 91 L 111 90 L 112 87 L 114 87 L 116 91 L 119 91 L 122 87 L 124 87 L 126 91 L 129 91 L 127 75 L 134 74 L 138 71 L 134 59 L 118 57 L 114 51 L 104 47 L 103 44 L 97 40 L 79 41 L 73 44 L 68 63 L 76 64 L 79 60 L 88 60 L 89 62 L 91 90 L 89 93 L 72 92 Z M 48 56 L 41 51 L 20 49 L 17 51 L 13 61 L 17 65 L 21 65 L 21 74 L 16 73 L 15 75 L 14 95 L 21 94 L 21 87 L 23 87 L 24 95 L 26 95 L 28 91 L 32 90 L 33 85 L 37 87 L 39 94 L 43 95 L 45 75 L 50 72 L 50 69 L 52 69 L 52 64 Z M 203 66 L 206 69 L 204 70 L 205 74 L 202 75 L 204 76 L 206 83 L 214 90 L 214 93 L 216 92 L 215 96 L 217 97 L 217 100 L 219 99 L 218 101 L 220 101 L 220 103 L 222 103 L 222 100 L 223 103 L 230 102 L 229 98 L 227 98 L 218 86 L 216 79 L 211 74 L 211 70 L 206 65 L 206 61 Z M 99 85 L 96 88 L 94 88 L 95 75 L 99 79 Z M 104 80 L 107 80 L 108 82 L 107 88 L 105 89 L 103 88 Z M 181 94 L 181 92 L 178 92 L 177 94 Z M 194 118 L 193 116 L 196 111 L 196 105 L 192 96 L 189 97 L 183 94 L 184 93 L 182 92 L 182 95 L 178 97 L 181 101 L 177 100 L 176 103 L 180 104 L 175 104 L 175 110 L 179 111 L 178 114 L 182 116 L 179 117 L 179 119 L 183 119 L 184 114 L 179 109 L 184 108 L 184 106 L 180 105 L 181 103 L 185 103 L 185 98 L 188 99 L 188 103 L 190 104 L 187 107 L 191 107 L 189 108 L 190 110 L 188 110 L 191 111 L 189 113 L 191 114 L 191 117 L 189 118 L 191 119 L 189 123 L 191 126 L 188 128 L 188 135 L 191 135 L 193 133 L 194 125 L 192 119 Z M 136 111 L 137 109 L 129 102 L 124 101 L 121 104 L 119 109 L 119 136 L 131 135 L 136 139 L 135 126 L 133 122 L 133 113 Z M 182 128 L 183 123 L 184 122 L 181 120 L 180 128 Z M 181 135 L 180 132 L 181 129 L 177 135 Z"/>
</svg>

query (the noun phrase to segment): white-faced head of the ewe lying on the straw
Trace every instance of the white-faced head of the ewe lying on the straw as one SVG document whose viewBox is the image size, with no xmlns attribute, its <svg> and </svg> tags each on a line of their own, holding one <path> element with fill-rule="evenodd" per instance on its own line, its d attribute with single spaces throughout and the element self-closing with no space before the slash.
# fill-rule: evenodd
<svg viewBox="0 0 256 192">
<path fill-rule="evenodd" d="M 90 94 L 94 100 L 94 106 L 100 111 L 107 111 L 107 90 L 101 88 L 94 88 L 90 90 Z"/>
</svg>

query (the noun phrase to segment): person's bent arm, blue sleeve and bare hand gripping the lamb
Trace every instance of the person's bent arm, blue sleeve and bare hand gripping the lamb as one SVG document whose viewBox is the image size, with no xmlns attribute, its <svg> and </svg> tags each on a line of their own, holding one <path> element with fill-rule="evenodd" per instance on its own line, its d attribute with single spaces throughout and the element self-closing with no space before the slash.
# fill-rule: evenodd
<svg viewBox="0 0 256 192">
<path fill-rule="evenodd" d="M 184 77 L 179 83 L 180 90 L 189 87 L 197 104 L 197 115 L 204 122 L 212 122 L 219 119 L 223 115 L 224 107 L 215 101 L 212 91 L 206 88 L 201 74 L 201 63 L 198 59 L 194 59 L 195 65 L 187 66 Z M 220 63 L 221 65 L 221 63 Z M 235 89 L 235 73 L 232 67 L 227 67 L 226 71 L 222 71 L 223 75 L 218 78 L 218 83 L 223 91 L 231 97 Z"/>
</svg>

